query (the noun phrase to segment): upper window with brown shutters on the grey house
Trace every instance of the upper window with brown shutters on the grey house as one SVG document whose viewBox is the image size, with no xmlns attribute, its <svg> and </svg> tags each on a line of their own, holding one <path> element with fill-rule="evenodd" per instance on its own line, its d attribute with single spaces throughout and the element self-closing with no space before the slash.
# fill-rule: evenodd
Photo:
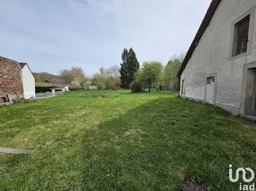
<svg viewBox="0 0 256 191">
<path fill-rule="evenodd" d="M 250 15 L 236 23 L 234 28 L 233 56 L 247 52 Z"/>
</svg>

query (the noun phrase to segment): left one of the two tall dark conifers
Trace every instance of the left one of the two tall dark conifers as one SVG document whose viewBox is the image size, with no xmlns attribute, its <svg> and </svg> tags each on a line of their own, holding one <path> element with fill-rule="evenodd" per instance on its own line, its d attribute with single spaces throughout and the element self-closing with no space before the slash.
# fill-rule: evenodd
<svg viewBox="0 0 256 191">
<path fill-rule="evenodd" d="M 127 58 L 128 58 L 128 50 L 126 48 L 124 48 L 124 51 L 121 55 L 122 63 L 120 64 L 121 65 L 121 69 L 120 69 L 121 84 L 122 84 L 123 88 L 128 88 L 128 86 L 127 86 L 127 79 L 128 79 Z"/>
</svg>

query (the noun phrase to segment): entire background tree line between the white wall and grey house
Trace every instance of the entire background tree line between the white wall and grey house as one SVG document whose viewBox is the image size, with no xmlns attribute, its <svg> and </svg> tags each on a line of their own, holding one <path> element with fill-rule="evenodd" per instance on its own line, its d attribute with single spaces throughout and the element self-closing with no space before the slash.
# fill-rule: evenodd
<svg viewBox="0 0 256 191">
<path fill-rule="evenodd" d="M 36 74 L 36 82 L 48 82 L 50 78 L 58 78 L 69 83 L 72 89 L 84 88 L 90 90 L 116 90 L 117 87 L 132 89 L 134 92 L 143 91 L 146 88 L 157 90 L 178 90 L 179 79 L 176 77 L 178 69 L 184 60 L 184 55 L 173 55 L 164 66 L 159 61 L 144 62 L 142 66 L 138 62 L 135 51 L 124 48 L 121 54 L 120 66 L 101 67 L 99 72 L 92 77 L 86 77 L 83 69 L 73 66 L 71 69 L 62 69 L 59 75 L 46 72 Z"/>
</svg>

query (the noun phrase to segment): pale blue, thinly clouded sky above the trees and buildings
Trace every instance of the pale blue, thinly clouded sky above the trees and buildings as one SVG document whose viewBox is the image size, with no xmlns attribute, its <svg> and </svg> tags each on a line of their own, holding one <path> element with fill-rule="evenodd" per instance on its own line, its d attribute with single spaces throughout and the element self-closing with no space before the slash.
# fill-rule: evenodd
<svg viewBox="0 0 256 191">
<path fill-rule="evenodd" d="M 0 0 L 0 55 L 32 71 L 86 75 L 119 65 L 124 47 L 138 61 L 187 52 L 211 0 Z"/>
</svg>

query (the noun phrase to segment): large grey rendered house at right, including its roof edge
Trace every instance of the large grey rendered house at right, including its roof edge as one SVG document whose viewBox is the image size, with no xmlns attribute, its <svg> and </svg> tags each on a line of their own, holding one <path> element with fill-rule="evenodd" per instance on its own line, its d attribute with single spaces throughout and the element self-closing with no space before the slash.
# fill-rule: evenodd
<svg viewBox="0 0 256 191">
<path fill-rule="evenodd" d="M 178 71 L 182 98 L 256 116 L 255 7 L 255 0 L 211 1 Z"/>
</svg>

